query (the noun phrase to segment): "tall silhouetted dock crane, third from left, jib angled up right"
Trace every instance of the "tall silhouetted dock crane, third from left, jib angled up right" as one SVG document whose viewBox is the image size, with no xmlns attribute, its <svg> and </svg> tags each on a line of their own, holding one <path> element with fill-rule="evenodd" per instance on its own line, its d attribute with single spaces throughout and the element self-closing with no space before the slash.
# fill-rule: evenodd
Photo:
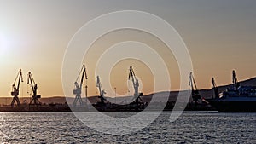
<svg viewBox="0 0 256 144">
<path fill-rule="evenodd" d="M 80 75 L 82 75 L 82 78 L 80 80 L 80 84 L 78 83 L 79 77 Z M 73 101 L 73 106 L 77 106 L 77 103 L 79 101 L 80 106 L 83 105 L 83 101 L 82 101 L 82 97 L 81 97 L 81 93 L 82 93 L 82 86 L 83 86 L 83 82 L 84 82 L 84 76 L 85 79 L 87 80 L 87 73 L 86 73 L 86 68 L 85 65 L 82 66 L 81 71 L 79 72 L 79 77 L 76 79 L 76 82 L 74 83 L 75 89 L 73 89 L 73 94 L 76 95 L 74 101 Z M 86 92 L 87 92 L 87 85 L 85 86 Z"/>
</svg>

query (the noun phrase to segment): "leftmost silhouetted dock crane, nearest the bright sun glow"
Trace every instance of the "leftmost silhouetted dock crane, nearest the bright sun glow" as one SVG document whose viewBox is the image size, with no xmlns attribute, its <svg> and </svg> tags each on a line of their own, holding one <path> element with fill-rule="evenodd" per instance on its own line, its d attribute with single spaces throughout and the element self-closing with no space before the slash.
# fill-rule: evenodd
<svg viewBox="0 0 256 144">
<path fill-rule="evenodd" d="M 18 84 L 17 87 L 15 86 L 16 80 L 18 79 Z M 20 100 L 19 100 L 19 89 L 20 89 L 20 81 L 23 82 L 23 78 L 22 78 L 22 72 L 21 69 L 18 72 L 17 77 L 15 78 L 15 82 L 13 84 L 13 91 L 11 92 L 11 95 L 14 96 L 13 101 L 11 102 L 11 106 L 14 107 L 15 106 L 15 101 L 17 102 L 17 105 L 20 106 Z"/>
</svg>

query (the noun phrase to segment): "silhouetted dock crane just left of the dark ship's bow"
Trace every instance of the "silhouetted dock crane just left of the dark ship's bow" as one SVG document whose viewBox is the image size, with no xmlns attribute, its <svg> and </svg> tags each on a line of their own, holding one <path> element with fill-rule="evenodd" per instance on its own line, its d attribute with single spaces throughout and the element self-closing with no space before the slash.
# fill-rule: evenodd
<svg viewBox="0 0 256 144">
<path fill-rule="evenodd" d="M 190 72 L 190 74 L 189 74 L 189 86 L 192 90 L 192 93 L 191 93 L 192 99 L 193 99 L 195 105 L 198 105 L 199 100 L 201 100 L 201 95 L 199 94 L 199 90 L 196 87 L 195 78 L 193 77 L 192 72 Z"/>
</svg>

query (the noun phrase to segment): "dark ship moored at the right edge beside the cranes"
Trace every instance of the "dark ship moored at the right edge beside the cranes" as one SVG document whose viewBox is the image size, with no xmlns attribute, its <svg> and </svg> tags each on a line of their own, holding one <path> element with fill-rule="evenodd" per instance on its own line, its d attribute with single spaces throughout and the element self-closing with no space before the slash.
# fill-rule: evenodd
<svg viewBox="0 0 256 144">
<path fill-rule="evenodd" d="M 233 71 L 233 84 L 224 92 L 218 94 L 213 88 L 215 98 L 207 100 L 218 112 L 256 112 L 256 86 L 241 85 L 237 82 Z"/>
</svg>

